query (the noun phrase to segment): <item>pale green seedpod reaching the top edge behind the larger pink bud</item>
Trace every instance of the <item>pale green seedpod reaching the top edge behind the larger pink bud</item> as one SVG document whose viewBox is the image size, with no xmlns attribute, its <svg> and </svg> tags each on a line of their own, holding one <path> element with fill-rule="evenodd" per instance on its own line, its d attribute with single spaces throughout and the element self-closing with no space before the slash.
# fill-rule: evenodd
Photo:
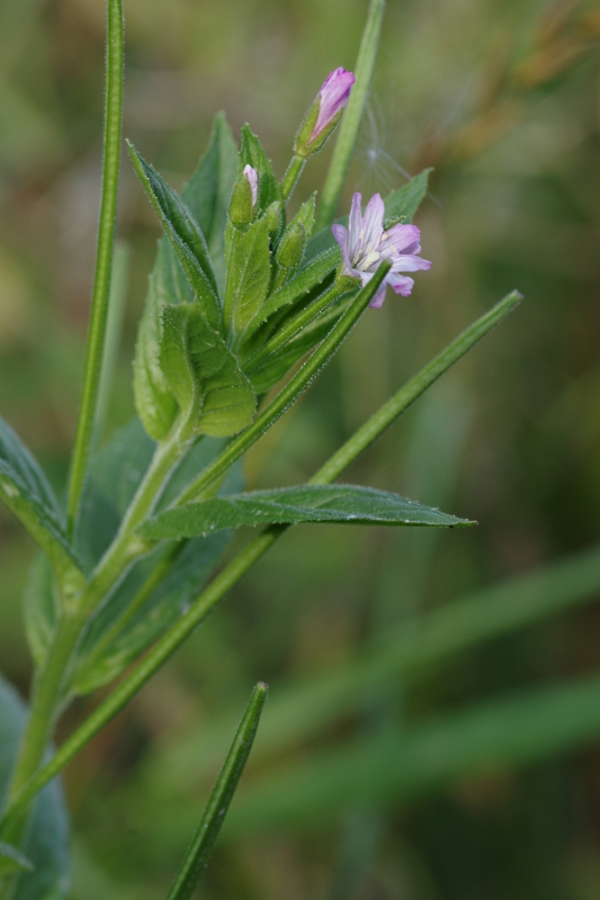
<svg viewBox="0 0 600 900">
<path fill-rule="evenodd" d="M 356 81 L 337 135 L 327 178 L 321 194 L 321 202 L 317 211 L 316 230 L 326 228 L 336 215 L 337 203 L 344 188 L 350 160 L 354 152 L 354 144 L 363 118 L 371 86 L 373 67 L 379 46 L 381 20 L 385 9 L 385 0 L 371 0 L 367 23 L 363 31 L 361 49 L 358 52 L 354 75 Z"/>
</svg>

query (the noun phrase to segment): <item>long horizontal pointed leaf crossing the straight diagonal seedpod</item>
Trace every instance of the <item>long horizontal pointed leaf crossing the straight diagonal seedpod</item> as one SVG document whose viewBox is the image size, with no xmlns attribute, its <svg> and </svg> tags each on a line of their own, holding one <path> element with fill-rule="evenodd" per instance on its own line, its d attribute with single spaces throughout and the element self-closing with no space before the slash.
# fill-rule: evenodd
<svg viewBox="0 0 600 900">
<path fill-rule="evenodd" d="M 139 528 L 144 537 L 193 537 L 241 525 L 349 525 L 456 527 L 475 525 L 388 491 L 354 484 L 305 484 L 273 491 L 248 491 L 166 509 Z"/>
</svg>

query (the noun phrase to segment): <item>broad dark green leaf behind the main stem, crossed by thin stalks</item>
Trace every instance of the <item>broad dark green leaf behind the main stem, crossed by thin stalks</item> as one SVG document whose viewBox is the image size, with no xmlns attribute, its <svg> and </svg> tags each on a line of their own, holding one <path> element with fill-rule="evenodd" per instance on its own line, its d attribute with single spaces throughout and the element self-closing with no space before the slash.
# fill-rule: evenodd
<svg viewBox="0 0 600 900">
<path fill-rule="evenodd" d="M 171 476 L 160 499 L 159 509 L 175 500 L 184 487 L 219 454 L 225 443 L 223 438 L 201 438 Z M 94 455 L 85 498 L 85 515 L 80 526 L 82 544 L 85 542 L 86 559 L 90 565 L 97 562 L 116 533 L 132 494 L 148 468 L 154 446 L 139 419 L 134 419 L 129 426 L 117 432 L 109 445 Z M 220 490 L 225 493 L 240 491 L 243 484 L 240 467 L 235 466 L 229 471 Z M 231 536 L 231 532 L 223 531 L 188 542 L 180 548 L 181 552 L 170 570 L 163 573 L 160 581 L 141 598 L 140 590 L 150 572 L 168 552 L 168 547 L 161 545 L 153 554 L 136 563 L 112 591 L 107 602 L 88 621 L 77 654 L 72 689 L 76 693 L 86 694 L 114 680 L 164 634 L 200 593 Z M 51 592 L 49 597 L 46 596 L 46 603 L 51 604 Z M 44 625 L 51 634 L 53 623 L 44 622 Z M 49 638 L 46 633 L 41 638 L 45 652 Z"/>
</svg>

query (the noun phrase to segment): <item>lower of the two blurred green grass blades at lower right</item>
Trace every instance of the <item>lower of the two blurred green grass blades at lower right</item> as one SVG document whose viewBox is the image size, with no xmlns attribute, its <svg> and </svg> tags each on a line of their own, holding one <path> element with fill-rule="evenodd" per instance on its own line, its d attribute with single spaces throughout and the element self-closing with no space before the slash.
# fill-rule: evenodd
<svg viewBox="0 0 600 900">
<path fill-rule="evenodd" d="M 325 823 L 354 804 L 390 806 L 480 776 L 547 760 L 600 738 L 600 675 L 520 691 L 422 725 L 313 753 L 257 778 L 226 832 Z"/>
</svg>

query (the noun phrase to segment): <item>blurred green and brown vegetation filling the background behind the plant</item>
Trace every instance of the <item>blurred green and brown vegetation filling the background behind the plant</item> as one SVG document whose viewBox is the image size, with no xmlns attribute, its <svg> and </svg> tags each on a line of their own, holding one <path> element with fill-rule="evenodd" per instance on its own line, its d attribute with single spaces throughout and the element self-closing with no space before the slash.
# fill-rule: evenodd
<svg viewBox="0 0 600 900">
<path fill-rule="evenodd" d="M 126 0 L 125 134 L 179 187 L 223 108 L 235 130 L 251 123 L 282 174 L 323 77 L 353 66 L 365 9 Z M 0 410 L 59 490 L 93 273 L 103 26 L 102 0 L 0 6 Z M 272 750 L 259 738 L 202 896 L 600 897 L 599 38 L 593 3 L 390 0 L 344 202 L 435 166 L 417 219 L 434 266 L 409 299 L 365 315 L 246 476 L 301 482 L 518 287 L 522 307 L 348 478 L 479 528 L 285 536 L 67 770 L 74 898 L 166 894 L 222 761 L 219 735 L 230 738 L 258 679 L 272 686 Z M 296 202 L 322 183 L 329 154 L 311 161 Z M 130 292 L 106 436 L 133 412 L 158 236 L 125 159 L 119 231 Z M 24 692 L 34 549 L 1 510 L 0 527 L 2 669 Z M 472 594 L 452 619 L 452 601 Z M 560 615 L 518 629 L 486 626 L 473 607 L 538 596 Z M 426 620 L 446 638 L 479 616 L 488 639 L 448 639 L 407 664 L 401 628 L 425 615 L 446 616 Z"/>
</svg>

